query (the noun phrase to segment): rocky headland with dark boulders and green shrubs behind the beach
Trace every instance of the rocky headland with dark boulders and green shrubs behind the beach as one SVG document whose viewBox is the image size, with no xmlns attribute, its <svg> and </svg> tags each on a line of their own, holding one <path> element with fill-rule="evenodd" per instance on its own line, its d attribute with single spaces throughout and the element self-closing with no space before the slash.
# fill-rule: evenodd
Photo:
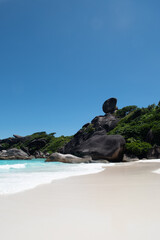
<svg viewBox="0 0 160 240">
<path fill-rule="evenodd" d="M 0 159 L 47 158 L 68 163 L 122 162 L 160 158 L 160 102 L 122 109 L 117 99 L 102 106 L 104 115 L 86 123 L 74 136 L 37 132 L 0 140 Z"/>
</svg>

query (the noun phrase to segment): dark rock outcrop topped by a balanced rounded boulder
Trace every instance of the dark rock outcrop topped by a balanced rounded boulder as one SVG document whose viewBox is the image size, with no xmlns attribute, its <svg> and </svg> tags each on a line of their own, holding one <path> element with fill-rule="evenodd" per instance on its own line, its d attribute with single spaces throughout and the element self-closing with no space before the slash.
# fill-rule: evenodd
<svg viewBox="0 0 160 240">
<path fill-rule="evenodd" d="M 117 100 L 111 98 L 104 103 L 106 115 L 95 117 L 91 123 L 85 124 L 67 143 L 61 153 L 73 154 L 83 158 L 90 156 L 92 160 L 104 159 L 111 162 L 123 160 L 125 140 L 120 135 L 107 135 L 114 129 L 119 120 L 111 114 L 116 110 Z"/>
</svg>

